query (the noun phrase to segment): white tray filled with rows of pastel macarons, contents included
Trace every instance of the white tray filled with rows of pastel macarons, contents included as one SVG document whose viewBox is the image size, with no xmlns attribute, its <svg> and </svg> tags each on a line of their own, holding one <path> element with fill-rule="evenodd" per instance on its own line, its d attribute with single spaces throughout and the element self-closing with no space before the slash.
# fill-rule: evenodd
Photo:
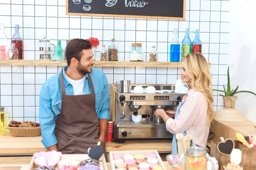
<svg viewBox="0 0 256 170">
<path fill-rule="evenodd" d="M 113 151 L 111 170 L 166 170 L 157 150 Z"/>
</svg>

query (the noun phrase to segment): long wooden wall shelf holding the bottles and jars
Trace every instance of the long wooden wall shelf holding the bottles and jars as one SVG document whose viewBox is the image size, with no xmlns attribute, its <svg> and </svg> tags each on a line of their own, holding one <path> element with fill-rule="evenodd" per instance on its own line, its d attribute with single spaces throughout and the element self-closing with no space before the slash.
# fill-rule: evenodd
<svg viewBox="0 0 256 170">
<path fill-rule="evenodd" d="M 65 66 L 65 60 L 12 60 L 0 59 L 0 65 L 48 65 L 48 66 Z M 134 61 L 96 61 L 94 66 L 104 67 L 180 67 L 181 62 L 134 62 Z M 208 63 L 211 67 L 211 63 Z"/>
</svg>

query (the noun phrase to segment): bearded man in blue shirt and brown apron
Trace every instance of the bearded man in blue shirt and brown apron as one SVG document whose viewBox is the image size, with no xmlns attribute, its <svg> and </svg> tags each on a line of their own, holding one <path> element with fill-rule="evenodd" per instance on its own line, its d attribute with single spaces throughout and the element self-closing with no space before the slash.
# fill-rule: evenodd
<svg viewBox="0 0 256 170">
<path fill-rule="evenodd" d="M 44 82 L 39 98 L 42 143 L 47 150 L 83 154 L 105 139 L 109 120 L 109 88 L 95 64 L 91 44 L 73 39 L 66 47 L 67 66 Z"/>
</svg>

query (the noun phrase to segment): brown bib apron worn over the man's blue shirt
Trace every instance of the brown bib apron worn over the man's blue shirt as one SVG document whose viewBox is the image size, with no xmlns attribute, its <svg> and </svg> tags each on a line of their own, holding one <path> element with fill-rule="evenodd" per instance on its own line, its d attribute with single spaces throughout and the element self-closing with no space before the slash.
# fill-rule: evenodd
<svg viewBox="0 0 256 170">
<path fill-rule="evenodd" d="M 99 138 L 99 120 L 95 109 L 93 82 L 88 75 L 91 94 L 66 95 L 62 71 L 61 113 L 56 119 L 55 136 L 58 150 L 64 154 L 86 154 L 89 147 L 95 147 Z M 101 142 L 105 153 L 105 143 Z"/>
</svg>

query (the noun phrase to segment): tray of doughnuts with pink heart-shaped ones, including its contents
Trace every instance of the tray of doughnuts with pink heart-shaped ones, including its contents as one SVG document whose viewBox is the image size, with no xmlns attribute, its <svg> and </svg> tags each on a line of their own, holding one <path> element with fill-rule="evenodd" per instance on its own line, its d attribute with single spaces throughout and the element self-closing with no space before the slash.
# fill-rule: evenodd
<svg viewBox="0 0 256 170">
<path fill-rule="evenodd" d="M 62 154 L 56 150 L 34 153 L 29 170 L 108 170 L 105 156 L 99 160 L 87 154 Z"/>
</svg>

